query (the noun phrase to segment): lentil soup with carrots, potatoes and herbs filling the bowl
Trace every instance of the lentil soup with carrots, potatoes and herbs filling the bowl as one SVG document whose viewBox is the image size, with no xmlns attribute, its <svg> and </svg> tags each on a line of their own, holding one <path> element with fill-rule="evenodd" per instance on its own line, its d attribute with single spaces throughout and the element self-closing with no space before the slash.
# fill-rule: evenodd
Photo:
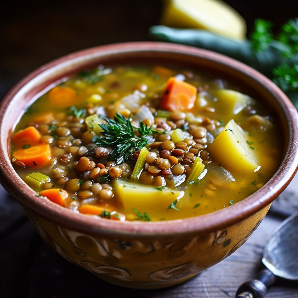
<svg viewBox="0 0 298 298">
<path fill-rule="evenodd" d="M 168 66 L 98 66 L 27 108 L 11 138 L 38 195 L 112 220 L 187 218 L 262 187 L 282 158 L 274 116 L 237 86 Z"/>
</svg>

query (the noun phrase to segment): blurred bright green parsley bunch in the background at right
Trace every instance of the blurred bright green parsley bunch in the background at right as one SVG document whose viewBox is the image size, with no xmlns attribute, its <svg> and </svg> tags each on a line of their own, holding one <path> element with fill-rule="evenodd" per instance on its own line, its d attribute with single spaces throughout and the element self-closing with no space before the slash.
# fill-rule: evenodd
<svg viewBox="0 0 298 298">
<path fill-rule="evenodd" d="M 273 70 L 273 81 L 283 91 L 298 89 L 298 18 L 285 23 L 281 32 L 274 36 L 273 24 L 263 19 L 255 21 L 255 29 L 252 32 L 251 47 L 258 55 L 269 48 L 280 52 L 281 64 Z"/>
</svg>

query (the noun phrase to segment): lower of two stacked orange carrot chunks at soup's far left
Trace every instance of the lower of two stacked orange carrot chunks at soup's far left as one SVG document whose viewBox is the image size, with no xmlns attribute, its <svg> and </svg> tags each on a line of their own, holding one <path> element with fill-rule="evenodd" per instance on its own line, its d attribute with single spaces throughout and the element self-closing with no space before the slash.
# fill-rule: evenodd
<svg viewBox="0 0 298 298">
<path fill-rule="evenodd" d="M 13 157 L 26 166 L 40 167 L 47 164 L 52 155 L 49 144 L 40 144 L 15 150 Z"/>
</svg>

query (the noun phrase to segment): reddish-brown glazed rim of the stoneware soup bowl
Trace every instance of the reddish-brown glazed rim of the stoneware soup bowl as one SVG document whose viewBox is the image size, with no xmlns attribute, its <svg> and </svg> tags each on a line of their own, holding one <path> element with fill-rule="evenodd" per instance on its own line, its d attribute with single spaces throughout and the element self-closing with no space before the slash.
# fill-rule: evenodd
<svg viewBox="0 0 298 298">
<path fill-rule="evenodd" d="M 179 55 L 190 55 L 196 58 L 219 63 L 231 71 L 245 75 L 255 81 L 266 92 L 269 92 L 275 100 L 279 101 L 281 110 L 287 120 L 288 129 L 287 148 L 284 159 L 274 176 L 259 190 L 242 201 L 205 215 L 170 221 L 111 221 L 105 218 L 94 218 L 84 214 L 75 213 L 72 210 L 61 207 L 44 197 L 37 197 L 27 184 L 16 174 L 13 169 L 7 148 L 9 148 L 10 136 L 3 133 L 6 111 L 14 103 L 13 100 L 20 97 L 20 92 L 32 89 L 34 84 L 47 72 L 61 71 L 63 67 L 79 61 L 85 63 L 88 59 L 94 59 L 98 55 L 119 55 L 139 52 L 169 52 Z M 84 62 L 85 61 L 85 62 Z M 82 64 L 82 65 L 83 65 Z M 64 71 L 65 72 L 65 71 Z M 63 73 L 63 71 L 61 72 Z M 63 75 L 61 76 L 63 77 Z M 26 89 L 26 90 L 25 90 Z M 17 101 L 17 100 L 15 100 Z M 97 46 L 80 50 L 61 58 L 55 59 L 44 66 L 39 67 L 16 83 L 3 97 L 0 104 L 0 181 L 4 188 L 17 201 L 24 205 L 25 209 L 45 217 L 56 224 L 76 229 L 88 234 L 109 235 L 138 235 L 148 237 L 150 235 L 179 235 L 189 233 L 207 233 L 216 231 L 232 224 L 243 221 L 265 208 L 285 189 L 294 177 L 298 167 L 298 114 L 288 97 L 271 80 L 252 69 L 250 66 L 227 56 L 180 44 L 164 42 L 127 42 Z M 10 131 L 11 133 L 12 131 Z M 15 183 L 13 182 L 15 181 Z"/>
</svg>

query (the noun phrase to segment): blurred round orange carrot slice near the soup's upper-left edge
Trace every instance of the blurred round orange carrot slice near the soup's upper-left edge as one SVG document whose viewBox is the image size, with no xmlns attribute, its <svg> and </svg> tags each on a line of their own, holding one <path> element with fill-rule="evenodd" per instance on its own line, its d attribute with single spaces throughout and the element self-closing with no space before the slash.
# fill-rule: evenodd
<svg viewBox="0 0 298 298">
<path fill-rule="evenodd" d="M 67 108 L 77 103 L 77 92 L 70 87 L 56 86 L 49 92 L 49 99 L 53 105 Z"/>
</svg>

